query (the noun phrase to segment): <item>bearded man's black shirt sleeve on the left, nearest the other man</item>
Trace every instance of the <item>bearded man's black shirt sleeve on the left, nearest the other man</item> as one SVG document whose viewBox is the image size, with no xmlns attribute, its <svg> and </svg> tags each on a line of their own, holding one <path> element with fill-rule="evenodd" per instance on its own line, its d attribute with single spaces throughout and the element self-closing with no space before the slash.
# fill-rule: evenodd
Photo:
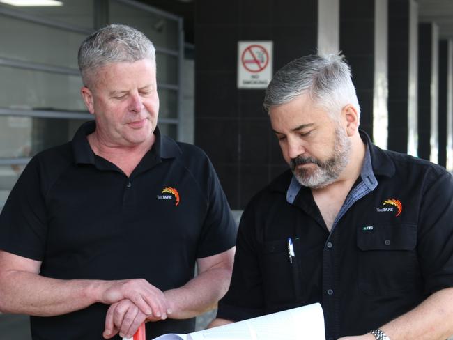
<svg viewBox="0 0 453 340">
<path fill-rule="evenodd" d="M 263 279 L 254 221 L 254 212 L 249 206 L 240 219 L 233 276 L 227 295 L 219 302 L 217 318 L 240 321 L 264 314 Z"/>
</svg>

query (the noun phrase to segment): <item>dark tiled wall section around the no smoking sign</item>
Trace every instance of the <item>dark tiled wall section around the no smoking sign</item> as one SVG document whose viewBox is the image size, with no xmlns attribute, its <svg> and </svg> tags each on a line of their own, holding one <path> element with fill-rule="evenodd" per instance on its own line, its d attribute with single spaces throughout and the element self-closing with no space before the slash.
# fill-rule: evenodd
<svg viewBox="0 0 453 340">
<path fill-rule="evenodd" d="M 275 72 L 316 52 L 317 8 L 317 0 L 195 1 L 195 144 L 233 209 L 287 169 L 262 109 L 264 90 L 236 87 L 238 41 L 272 40 Z"/>
</svg>

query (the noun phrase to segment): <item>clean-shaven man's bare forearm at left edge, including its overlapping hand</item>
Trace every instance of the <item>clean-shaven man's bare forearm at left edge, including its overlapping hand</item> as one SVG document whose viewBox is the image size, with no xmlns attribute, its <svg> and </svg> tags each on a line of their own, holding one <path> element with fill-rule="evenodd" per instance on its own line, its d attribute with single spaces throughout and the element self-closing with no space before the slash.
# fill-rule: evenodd
<svg viewBox="0 0 453 340">
<path fill-rule="evenodd" d="M 20 270 L 0 275 L 0 311 L 6 313 L 56 316 L 124 299 L 146 315 L 166 318 L 169 312 L 164 293 L 145 279 L 60 280 Z"/>
</svg>

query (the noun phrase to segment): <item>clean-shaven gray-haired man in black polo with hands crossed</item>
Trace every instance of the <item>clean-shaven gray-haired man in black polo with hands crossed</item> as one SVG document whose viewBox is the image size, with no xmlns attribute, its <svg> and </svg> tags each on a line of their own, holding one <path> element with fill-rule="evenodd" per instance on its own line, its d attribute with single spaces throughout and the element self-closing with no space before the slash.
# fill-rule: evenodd
<svg viewBox="0 0 453 340">
<path fill-rule="evenodd" d="M 227 291 L 236 238 L 213 166 L 160 134 L 143 33 L 96 31 L 79 68 L 95 119 L 33 157 L 8 197 L 0 310 L 31 315 L 34 340 L 132 337 L 146 321 L 148 339 L 193 332 Z"/>
</svg>

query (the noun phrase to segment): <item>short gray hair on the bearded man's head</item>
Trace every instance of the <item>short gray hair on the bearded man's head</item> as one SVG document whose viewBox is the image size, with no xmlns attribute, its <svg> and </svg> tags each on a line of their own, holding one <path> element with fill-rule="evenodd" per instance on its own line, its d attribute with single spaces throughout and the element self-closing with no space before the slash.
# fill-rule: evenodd
<svg viewBox="0 0 453 340">
<path fill-rule="evenodd" d="M 353 105 L 360 116 L 351 68 L 341 53 L 311 54 L 284 65 L 268 85 L 263 107 L 269 111 L 272 105 L 286 104 L 304 93 L 335 120 L 347 104 Z"/>
</svg>

